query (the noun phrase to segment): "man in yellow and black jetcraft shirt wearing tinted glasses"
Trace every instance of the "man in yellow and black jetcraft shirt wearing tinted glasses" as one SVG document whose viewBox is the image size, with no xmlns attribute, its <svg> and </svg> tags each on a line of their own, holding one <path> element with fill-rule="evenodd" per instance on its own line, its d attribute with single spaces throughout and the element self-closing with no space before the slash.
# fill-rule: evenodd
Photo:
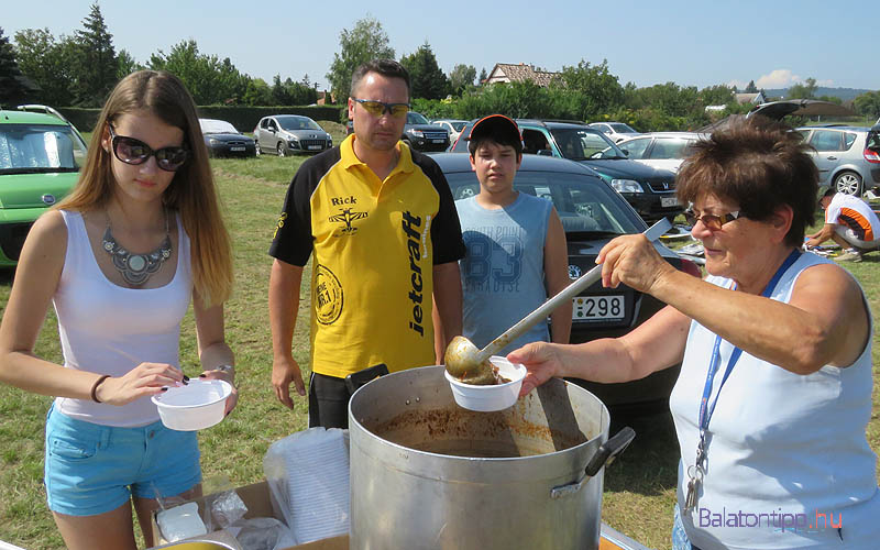
<svg viewBox="0 0 880 550">
<path fill-rule="evenodd" d="M 354 133 L 302 163 L 287 190 L 270 249 L 272 384 L 287 407 L 292 383 L 305 395 L 290 345 L 314 255 L 309 427 L 348 427 L 345 376 L 378 363 L 395 372 L 441 361 L 435 305 L 447 339 L 461 333 L 459 218 L 437 164 L 400 142 L 408 110 L 400 64 L 359 67 L 349 98 Z"/>
</svg>

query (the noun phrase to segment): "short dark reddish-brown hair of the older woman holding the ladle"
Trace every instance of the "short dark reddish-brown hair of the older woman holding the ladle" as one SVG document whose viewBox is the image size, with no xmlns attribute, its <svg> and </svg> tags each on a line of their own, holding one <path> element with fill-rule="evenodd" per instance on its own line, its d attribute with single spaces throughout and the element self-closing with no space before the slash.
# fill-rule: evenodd
<svg viewBox="0 0 880 550">
<path fill-rule="evenodd" d="M 681 202 L 715 195 L 736 201 L 743 216 L 757 221 L 788 205 L 794 216 L 785 243 L 803 243 L 816 215 L 818 170 L 798 132 L 758 116 L 713 132 L 693 150 L 676 178 Z"/>
</svg>

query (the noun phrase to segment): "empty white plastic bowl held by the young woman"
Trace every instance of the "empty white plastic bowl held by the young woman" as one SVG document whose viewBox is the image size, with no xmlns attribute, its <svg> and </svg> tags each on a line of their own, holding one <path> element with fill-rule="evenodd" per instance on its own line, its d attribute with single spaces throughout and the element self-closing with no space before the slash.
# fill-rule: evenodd
<svg viewBox="0 0 880 550">
<path fill-rule="evenodd" d="M 166 428 L 195 431 L 219 424 L 226 416 L 232 385 L 222 380 L 194 378 L 185 386 L 169 387 L 152 397 Z"/>
</svg>

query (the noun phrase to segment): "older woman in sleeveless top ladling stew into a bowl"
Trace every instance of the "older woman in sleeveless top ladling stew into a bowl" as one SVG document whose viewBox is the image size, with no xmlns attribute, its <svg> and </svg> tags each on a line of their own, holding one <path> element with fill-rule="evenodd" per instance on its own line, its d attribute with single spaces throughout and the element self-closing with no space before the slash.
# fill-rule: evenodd
<svg viewBox="0 0 880 550">
<path fill-rule="evenodd" d="M 674 548 L 876 548 L 872 322 L 859 284 L 800 251 L 816 168 L 796 133 L 749 119 L 708 141 L 678 177 L 703 242 L 705 280 L 641 235 L 600 253 L 603 284 L 668 306 L 632 332 L 508 355 L 528 393 L 553 376 L 641 378 L 682 361 L 670 398 L 681 461 Z"/>
</svg>

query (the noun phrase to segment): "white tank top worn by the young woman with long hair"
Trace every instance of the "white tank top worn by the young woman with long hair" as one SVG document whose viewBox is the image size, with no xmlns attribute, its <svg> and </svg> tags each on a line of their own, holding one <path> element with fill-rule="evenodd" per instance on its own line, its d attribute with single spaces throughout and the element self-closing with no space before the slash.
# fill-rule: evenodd
<svg viewBox="0 0 880 550">
<path fill-rule="evenodd" d="M 64 365 L 110 376 L 122 376 L 143 362 L 179 366 L 180 320 L 193 297 L 189 238 L 180 220 L 174 278 L 160 288 L 135 289 L 111 283 L 101 272 L 82 216 L 61 212 L 67 226 L 67 252 L 52 301 Z M 148 397 L 121 407 L 57 397 L 55 407 L 69 417 L 105 426 L 129 428 L 158 420 Z"/>
</svg>

